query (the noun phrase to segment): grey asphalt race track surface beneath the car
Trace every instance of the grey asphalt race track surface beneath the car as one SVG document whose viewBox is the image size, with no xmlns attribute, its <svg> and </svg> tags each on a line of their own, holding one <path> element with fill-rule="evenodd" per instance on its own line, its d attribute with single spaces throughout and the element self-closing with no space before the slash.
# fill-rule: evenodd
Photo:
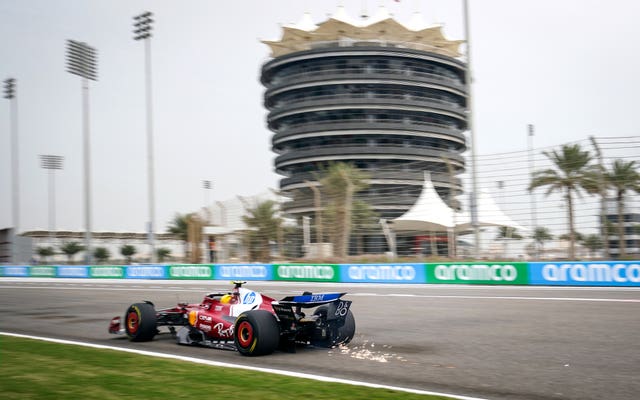
<svg viewBox="0 0 640 400">
<path fill-rule="evenodd" d="M 130 343 L 107 333 L 131 303 L 158 308 L 228 291 L 221 281 L 0 278 L 0 330 L 488 399 L 640 396 L 640 289 L 251 282 L 275 298 L 345 291 L 356 336 L 344 349 L 248 358 Z M 131 366 L 127 366 L 130 368 Z"/>
</svg>

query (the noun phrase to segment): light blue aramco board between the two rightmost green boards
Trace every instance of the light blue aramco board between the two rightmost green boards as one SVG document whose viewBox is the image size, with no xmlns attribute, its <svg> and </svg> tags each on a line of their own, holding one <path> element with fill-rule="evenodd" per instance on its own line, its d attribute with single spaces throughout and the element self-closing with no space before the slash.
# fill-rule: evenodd
<svg viewBox="0 0 640 400">
<path fill-rule="evenodd" d="M 340 282 L 426 283 L 424 264 L 340 265 Z"/>
</svg>

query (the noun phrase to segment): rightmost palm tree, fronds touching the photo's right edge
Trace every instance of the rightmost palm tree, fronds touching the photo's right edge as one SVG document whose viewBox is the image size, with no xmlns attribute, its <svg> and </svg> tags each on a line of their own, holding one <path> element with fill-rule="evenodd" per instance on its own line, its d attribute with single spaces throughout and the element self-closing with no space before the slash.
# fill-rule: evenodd
<svg viewBox="0 0 640 400">
<path fill-rule="evenodd" d="M 640 193 L 640 173 L 636 170 L 635 161 L 615 160 L 611 170 L 606 173 L 606 180 L 616 191 L 618 206 L 618 243 L 620 243 L 619 257 L 626 256 L 624 237 L 624 199 L 628 190 Z"/>
</svg>

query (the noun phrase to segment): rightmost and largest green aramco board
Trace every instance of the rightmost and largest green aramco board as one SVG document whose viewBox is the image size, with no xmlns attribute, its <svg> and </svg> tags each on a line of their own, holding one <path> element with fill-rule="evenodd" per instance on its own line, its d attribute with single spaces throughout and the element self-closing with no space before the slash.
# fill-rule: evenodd
<svg viewBox="0 0 640 400">
<path fill-rule="evenodd" d="M 427 264 L 427 283 L 526 285 L 527 263 Z"/>
</svg>

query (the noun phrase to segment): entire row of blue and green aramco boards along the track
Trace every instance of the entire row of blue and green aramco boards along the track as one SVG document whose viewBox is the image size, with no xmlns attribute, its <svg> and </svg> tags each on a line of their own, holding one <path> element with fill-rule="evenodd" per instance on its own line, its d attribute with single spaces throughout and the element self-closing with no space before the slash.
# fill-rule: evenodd
<svg viewBox="0 0 640 400">
<path fill-rule="evenodd" d="M 396 264 L 0 265 L 14 278 L 640 287 L 640 261 Z"/>
</svg>

